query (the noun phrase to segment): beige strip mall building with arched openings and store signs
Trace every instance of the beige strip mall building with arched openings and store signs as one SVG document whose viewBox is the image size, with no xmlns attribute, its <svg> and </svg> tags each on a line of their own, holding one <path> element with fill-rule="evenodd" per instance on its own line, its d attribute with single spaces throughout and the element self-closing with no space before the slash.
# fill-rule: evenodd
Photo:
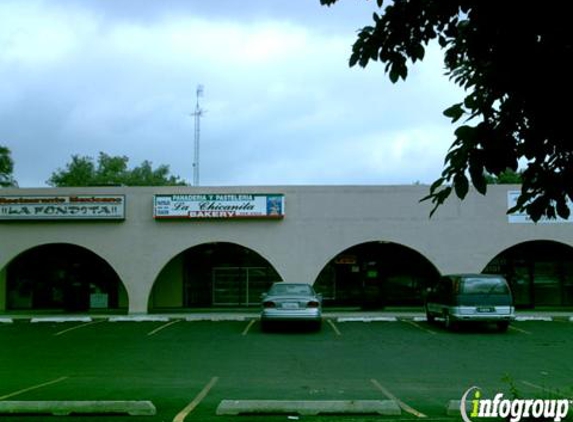
<svg viewBox="0 0 573 422">
<path fill-rule="evenodd" d="M 573 220 L 508 216 L 518 190 L 430 219 L 426 186 L 2 189 L 0 313 L 246 307 L 281 280 L 325 306 L 416 306 L 473 272 L 519 307 L 573 306 Z"/>
</svg>

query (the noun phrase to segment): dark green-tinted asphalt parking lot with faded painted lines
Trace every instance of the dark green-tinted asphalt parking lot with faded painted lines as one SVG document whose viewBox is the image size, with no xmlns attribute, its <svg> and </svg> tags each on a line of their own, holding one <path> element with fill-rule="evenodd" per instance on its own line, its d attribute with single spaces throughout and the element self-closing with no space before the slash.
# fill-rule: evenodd
<svg viewBox="0 0 573 422">
<path fill-rule="evenodd" d="M 259 321 L 0 324 L 0 400 L 151 401 L 154 416 L 0 415 L 6 421 L 459 420 L 471 386 L 491 396 L 573 397 L 573 322 L 449 332 L 412 318 L 327 318 L 316 332 Z M 401 416 L 220 416 L 223 400 L 391 400 Z"/>
</svg>

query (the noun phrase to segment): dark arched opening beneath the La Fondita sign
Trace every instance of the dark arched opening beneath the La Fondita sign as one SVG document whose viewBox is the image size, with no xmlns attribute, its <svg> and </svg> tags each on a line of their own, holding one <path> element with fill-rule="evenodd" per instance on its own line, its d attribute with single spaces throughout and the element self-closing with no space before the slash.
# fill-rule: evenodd
<svg viewBox="0 0 573 422">
<path fill-rule="evenodd" d="M 127 292 L 114 269 L 81 246 L 37 246 L 6 269 L 7 310 L 85 312 L 127 306 Z"/>
</svg>

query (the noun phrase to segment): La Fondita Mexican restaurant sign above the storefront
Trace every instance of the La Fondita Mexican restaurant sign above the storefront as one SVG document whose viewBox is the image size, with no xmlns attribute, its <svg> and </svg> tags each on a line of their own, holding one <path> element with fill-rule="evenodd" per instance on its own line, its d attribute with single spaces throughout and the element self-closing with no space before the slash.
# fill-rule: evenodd
<svg viewBox="0 0 573 422">
<path fill-rule="evenodd" d="M 124 220 L 125 195 L 2 195 L 0 220 Z"/>
</svg>

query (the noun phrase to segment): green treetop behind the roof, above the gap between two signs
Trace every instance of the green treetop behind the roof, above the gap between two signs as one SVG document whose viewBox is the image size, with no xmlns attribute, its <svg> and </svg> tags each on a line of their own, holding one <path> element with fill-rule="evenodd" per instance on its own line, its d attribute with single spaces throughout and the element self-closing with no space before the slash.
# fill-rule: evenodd
<svg viewBox="0 0 573 422">
<path fill-rule="evenodd" d="M 73 155 L 65 169 L 58 169 L 48 180 L 50 186 L 177 186 L 185 185 L 178 176 L 169 174 L 169 166 L 153 169 L 150 161 L 128 168 L 126 156 L 100 152 L 97 163 L 92 157 Z"/>
</svg>

